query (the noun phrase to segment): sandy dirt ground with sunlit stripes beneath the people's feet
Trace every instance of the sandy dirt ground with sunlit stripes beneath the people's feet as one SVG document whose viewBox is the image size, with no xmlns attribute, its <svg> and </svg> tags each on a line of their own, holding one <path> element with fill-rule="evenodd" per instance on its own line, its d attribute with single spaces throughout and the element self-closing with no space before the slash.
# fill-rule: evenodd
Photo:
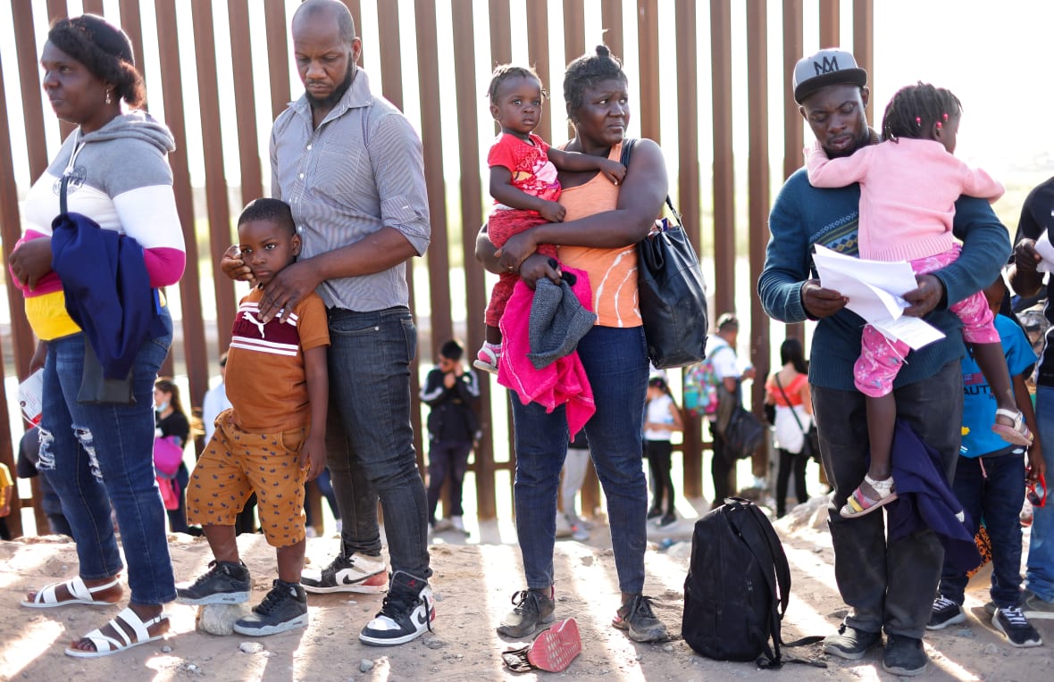
<svg viewBox="0 0 1054 682">
<path fill-rule="evenodd" d="M 784 619 L 784 639 L 833 631 L 845 606 L 838 597 L 832 567 L 831 538 L 814 499 L 796 508 L 776 526 L 784 541 L 793 573 L 790 606 Z M 701 508 L 702 501 L 695 503 Z M 697 509 L 698 513 L 698 509 Z M 787 665 L 779 671 L 759 671 L 749 663 L 725 663 L 702 658 L 680 639 L 683 583 L 688 563 L 694 519 L 690 510 L 679 526 L 649 530 L 646 592 L 656 598 L 671 641 L 637 644 L 610 626 L 618 603 L 614 562 L 607 528 L 593 528 L 591 539 L 557 544 L 558 617 L 573 616 L 582 634 L 583 651 L 562 674 L 513 674 L 503 667 L 501 651 L 511 648 L 494 631 L 508 611 L 512 592 L 524 585 L 514 531 L 509 524 L 471 525 L 469 538 L 440 533 L 431 547 L 435 574 L 437 617 L 434 631 L 391 648 L 360 644 L 363 624 L 379 608 L 379 595 L 309 596 L 311 623 L 307 629 L 253 640 L 238 635 L 215 637 L 197 632 L 196 607 L 172 604 L 172 630 L 153 642 L 101 659 L 73 659 L 65 644 L 117 612 L 65 606 L 28 609 L 19 606 L 24 592 L 76 574 L 72 543 L 33 538 L 0 543 L 0 680 L 534 680 L 560 675 L 579 680 L 736 680 L 779 676 L 784 682 L 804 680 L 877 680 L 892 676 L 881 670 L 875 649 L 856 662 L 824 657 L 819 645 L 793 649 L 799 657 L 825 660 L 820 669 Z M 1028 534 L 1026 533 L 1026 539 Z M 675 541 L 665 549 L 664 539 Z M 201 539 L 171 537 L 177 581 L 190 580 L 210 559 Z M 254 582 L 254 602 L 270 587 L 275 574 L 273 551 L 261 537 L 239 539 Z M 309 557 L 326 563 L 337 541 L 309 541 Z M 1031 681 L 1054 679 L 1051 646 L 1054 622 L 1035 622 L 1048 644 L 1016 649 L 993 630 L 984 615 L 990 572 L 971 582 L 965 623 L 926 635 L 931 665 L 920 680 Z M 239 648 L 253 640 L 260 650 Z M 247 647 L 250 648 L 250 647 Z M 251 648 L 250 648 L 251 650 Z"/>
</svg>

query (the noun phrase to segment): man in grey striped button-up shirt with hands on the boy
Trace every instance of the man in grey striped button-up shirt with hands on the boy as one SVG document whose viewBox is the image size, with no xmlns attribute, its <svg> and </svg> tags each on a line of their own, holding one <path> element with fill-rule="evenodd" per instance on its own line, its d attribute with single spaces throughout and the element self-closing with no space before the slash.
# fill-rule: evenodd
<svg viewBox="0 0 1054 682">
<path fill-rule="evenodd" d="M 271 191 L 304 240 L 297 262 L 268 285 L 267 320 L 317 291 L 329 310 L 328 465 L 344 519 L 340 553 L 305 571 L 310 592 L 383 592 L 359 634 L 367 644 L 409 642 L 435 618 L 428 586 L 428 505 L 410 425 L 410 362 L 417 331 L 406 260 L 431 230 L 421 138 L 356 66 L 362 41 L 337 0 L 307 0 L 293 15 L 293 56 L 305 94 L 271 131 Z M 238 260 L 229 272 L 245 274 Z M 226 268 L 225 268 L 226 269 Z M 391 584 L 380 557 L 385 514 Z"/>
</svg>

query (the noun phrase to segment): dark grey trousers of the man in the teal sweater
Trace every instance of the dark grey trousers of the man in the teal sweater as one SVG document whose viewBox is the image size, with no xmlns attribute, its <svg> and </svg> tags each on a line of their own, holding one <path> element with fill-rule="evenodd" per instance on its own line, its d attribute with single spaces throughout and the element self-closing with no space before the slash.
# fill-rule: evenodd
<svg viewBox="0 0 1054 682">
<path fill-rule="evenodd" d="M 864 395 L 819 386 L 812 390 L 823 468 L 835 489 L 827 523 L 835 548 L 835 580 L 852 609 L 845 623 L 866 632 L 884 628 L 889 635 L 921 639 L 937 593 L 944 549 L 929 528 L 886 543 L 882 512 L 856 519 L 838 513 L 867 472 Z M 958 361 L 894 394 L 897 418 L 907 422 L 923 443 L 940 453 L 944 475 L 952 481 L 962 424 Z"/>
</svg>

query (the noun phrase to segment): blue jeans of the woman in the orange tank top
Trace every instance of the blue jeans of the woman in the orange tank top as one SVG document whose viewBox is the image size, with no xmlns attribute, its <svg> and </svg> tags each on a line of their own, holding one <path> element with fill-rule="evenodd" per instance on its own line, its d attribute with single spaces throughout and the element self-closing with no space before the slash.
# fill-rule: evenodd
<svg viewBox="0 0 1054 682">
<path fill-rule="evenodd" d="M 644 589 L 648 505 L 641 461 L 648 382 L 644 330 L 593 327 L 579 342 L 578 350 L 597 403 L 585 432 L 607 496 L 619 589 L 639 595 Z M 516 534 L 527 586 L 545 589 L 553 584 L 557 489 L 567 454 L 567 418 L 563 406 L 546 414 L 536 403 L 523 405 L 513 393 L 510 396 L 516 449 Z"/>
</svg>

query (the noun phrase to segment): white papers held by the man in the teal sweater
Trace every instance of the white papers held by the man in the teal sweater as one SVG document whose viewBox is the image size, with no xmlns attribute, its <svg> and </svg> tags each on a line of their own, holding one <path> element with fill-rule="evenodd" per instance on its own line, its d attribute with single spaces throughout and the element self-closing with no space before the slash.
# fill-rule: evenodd
<svg viewBox="0 0 1054 682">
<path fill-rule="evenodd" d="M 833 289 L 848 298 L 846 308 L 886 335 L 916 350 L 944 337 L 933 325 L 903 315 L 909 303 L 901 296 L 918 287 L 906 260 L 865 260 L 816 245 L 813 262 L 824 289 Z"/>
</svg>

